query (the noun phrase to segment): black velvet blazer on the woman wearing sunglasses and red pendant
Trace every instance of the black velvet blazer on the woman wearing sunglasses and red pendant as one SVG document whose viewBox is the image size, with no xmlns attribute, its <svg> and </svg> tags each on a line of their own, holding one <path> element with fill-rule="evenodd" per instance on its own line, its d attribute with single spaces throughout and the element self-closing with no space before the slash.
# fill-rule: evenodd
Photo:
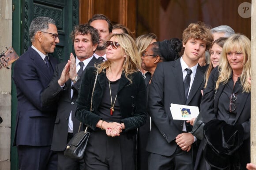
<svg viewBox="0 0 256 170">
<path fill-rule="evenodd" d="M 107 81 L 105 72 L 98 74 L 97 83 L 93 94 L 93 109 L 90 112 L 91 93 L 94 86 L 96 69 L 94 67 L 87 68 L 83 75 L 79 96 L 76 101 L 77 110 L 75 116 L 82 121 L 91 131 L 98 130 L 96 124 L 100 119 L 98 115 L 98 107 L 101 103 Z M 120 84 L 117 92 L 117 100 L 120 104 L 121 123 L 124 123 L 125 130 L 133 130 L 141 127 L 147 118 L 146 115 L 146 88 L 141 72 L 134 72 L 131 75 L 132 84 L 122 73 Z"/>
</svg>

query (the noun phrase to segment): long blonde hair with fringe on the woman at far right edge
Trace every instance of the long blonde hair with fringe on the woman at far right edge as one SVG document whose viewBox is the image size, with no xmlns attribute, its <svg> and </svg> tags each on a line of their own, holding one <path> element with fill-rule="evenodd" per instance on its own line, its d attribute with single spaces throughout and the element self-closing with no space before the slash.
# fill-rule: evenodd
<svg viewBox="0 0 256 170">
<path fill-rule="evenodd" d="M 233 50 L 241 52 L 244 55 L 243 71 L 240 76 L 240 81 L 243 92 L 249 93 L 251 91 L 251 85 L 247 80 L 251 77 L 251 41 L 242 34 L 233 34 L 226 40 L 223 46 L 221 54 L 222 59 L 218 68 L 219 76 L 216 82 L 216 89 L 218 89 L 220 83 L 226 84 L 230 79 L 232 68 L 230 67 L 226 55 Z"/>
</svg>

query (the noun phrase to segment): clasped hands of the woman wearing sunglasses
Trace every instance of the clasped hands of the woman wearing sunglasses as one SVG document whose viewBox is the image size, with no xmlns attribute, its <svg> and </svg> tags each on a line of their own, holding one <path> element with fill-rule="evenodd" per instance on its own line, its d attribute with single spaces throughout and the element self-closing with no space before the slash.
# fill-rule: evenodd
<svg viewBox="0 0 256 170">
<path fill-rule="evenodd" d="M 111 137 L 120 136 L 120 133 L 124 129 L 124 123 L 117 122 L 105 122 L 101 124 L 102 130 L 106 131 L 106 134 Z"/>
</svg>

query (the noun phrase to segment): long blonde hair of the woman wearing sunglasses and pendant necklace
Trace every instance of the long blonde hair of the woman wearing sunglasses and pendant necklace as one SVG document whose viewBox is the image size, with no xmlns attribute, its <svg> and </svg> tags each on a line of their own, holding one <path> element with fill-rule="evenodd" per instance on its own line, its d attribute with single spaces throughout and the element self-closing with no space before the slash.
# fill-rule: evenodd
<svg viewBox="0 0 256 170">
<path fill-rule="evenodd" d="M 131 36 L 125 33 L 121 34 L 112 34 L 109 36 L 109 40 L 115 37 L 120 48 L 124 50 L 126 57 L 123 63 L 123 72 L 125 77 L 132 83 L 131 78 L 129 77 L 130 74 L 133 72 L 138 72 L 141 65 L 141 60 L 137 51 L 136 44 Z M 105 69 L 111 69 L 111 61 L 107 60 L 102 64 L 96 66 L 99 73 L 101 73 Z"/>
</svg>

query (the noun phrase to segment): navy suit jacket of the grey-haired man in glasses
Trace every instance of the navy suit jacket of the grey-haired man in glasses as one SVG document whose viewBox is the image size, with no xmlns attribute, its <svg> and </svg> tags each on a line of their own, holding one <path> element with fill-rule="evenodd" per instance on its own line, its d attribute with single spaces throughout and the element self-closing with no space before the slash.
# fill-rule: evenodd
<svg viewBox="0 0 256 170">
<path fill-rule="evenodd" d="M 55 68 L 57 60 L 49 55 L 49 61 Z M 40 55 L 31 47 L 16 61 L 12 77 L 18 98 L 14 145 L 51 145 L 56 106 L 44 107 L 41 93 L 52 76 Z"/>
</svg>

